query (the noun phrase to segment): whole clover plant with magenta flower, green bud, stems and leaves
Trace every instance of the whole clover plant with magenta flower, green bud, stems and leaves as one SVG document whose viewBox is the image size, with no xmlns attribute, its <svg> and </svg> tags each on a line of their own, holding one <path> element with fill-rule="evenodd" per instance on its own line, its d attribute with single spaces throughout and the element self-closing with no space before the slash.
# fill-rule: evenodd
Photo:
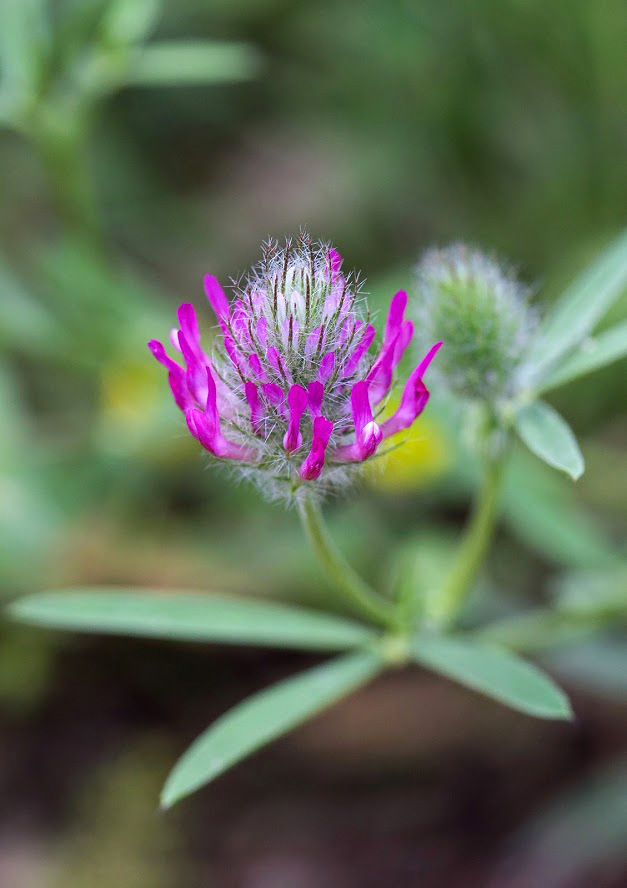
<svg viewBox="0 0 627 888">
<path fill-rule="evenodd" d="M 321 566 L 354 617 L 146 590 L 62 590 L 15 602 L 16 618 L 48 627 L 340 652 L 219 718 L 175 765 L 163 806 L 385 669 L 410 662 L 528 715 L 569 718 L 564 692 L 520 653 L 602 626 L 619 606 L 614 599 L 609 607 L 603 596 L 586 598 L 582 609 L 579 595 L 576 606 L 567 596 L 557 608 L 479 626 L 462 617 L 489 548 L 515 437 L 573 479 L 583 471 L 574 434 L 540 396 L 627 353 L 624 322 L 593 335 L 627 284 L 627 234 L 538 322 L 528 291 L 509 270 L 466 247 L 430 251 L 412 295 L 417 331 L 406 317 L 407 296 L 397 293 L 378 349 L 356 279 L 343 271 L 333 248 L 306 236 L 283 248 L 269 245 L 258 268 L 235 285 L 232 299 L 215 278 L 205 284 L 217 324 L 213 346 L 201 344 L 195 311 L 184 304 L 171 348 L 155 340 L 151 351 L 167 369 L 174 400 L 199 446 L 270 497 L 297 506 Z M 414 369 L 388 416 L 382 411 L 415 332 Z M 418 419 L 429 398 L 427 372 L 436 397 L 446 387 L 462 409 L 481 410 L 483 477 L 457 551 L 435 588 L 427 591 L 420 577 L 399 569 L 395 588 L 384 595 L 344 560 L 320 504 L 325 492 L 350 482 Z M 400 552 L 391 555 L 400 564 Z"/>
</svg>

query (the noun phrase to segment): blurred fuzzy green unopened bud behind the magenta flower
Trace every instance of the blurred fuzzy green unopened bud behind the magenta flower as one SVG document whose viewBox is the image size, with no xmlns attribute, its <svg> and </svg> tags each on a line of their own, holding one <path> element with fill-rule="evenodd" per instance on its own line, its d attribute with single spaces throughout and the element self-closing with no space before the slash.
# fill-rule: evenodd
<svg viewBox="0 0 627 888">
<path fill-rule="evenodd" d="M 427 250 L 416 274 L 421 344 L 432 337 L 446 343 L 439 381 L 471 400 L 512 395 L 535 325 L 528 289 L 463 244 Z"/>
</svg>

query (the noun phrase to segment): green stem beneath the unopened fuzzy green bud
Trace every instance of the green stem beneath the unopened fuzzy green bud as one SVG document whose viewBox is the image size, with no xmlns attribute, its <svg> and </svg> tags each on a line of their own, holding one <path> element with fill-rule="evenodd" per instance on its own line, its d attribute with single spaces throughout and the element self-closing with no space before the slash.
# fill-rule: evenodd
<svg viewBox="0 0 627 888">
<path fill-rule="evenodd" d="M 432 615 L 439 623 L 449 623 L 457 616 L 479 573 L 498 516 L 504 468 L 505 452 L 493 457 L 488 464 L 451 572 L 438 596 L 437 613 Z"/>
</svg>

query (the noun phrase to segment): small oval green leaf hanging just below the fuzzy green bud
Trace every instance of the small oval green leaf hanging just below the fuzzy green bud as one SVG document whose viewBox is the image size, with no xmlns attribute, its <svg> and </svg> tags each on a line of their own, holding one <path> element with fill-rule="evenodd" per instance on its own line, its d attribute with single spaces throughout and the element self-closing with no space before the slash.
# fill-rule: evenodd
<svg viewBox="0 0 627 888">
<path fill-rule="evenodd" d="M 584 470 L 584 461 L 570 426 L 559 413 L 535 401 L 519 410 L 514 419 L 516 431 L 529 450 L 576 481 Z"/>
</svg>

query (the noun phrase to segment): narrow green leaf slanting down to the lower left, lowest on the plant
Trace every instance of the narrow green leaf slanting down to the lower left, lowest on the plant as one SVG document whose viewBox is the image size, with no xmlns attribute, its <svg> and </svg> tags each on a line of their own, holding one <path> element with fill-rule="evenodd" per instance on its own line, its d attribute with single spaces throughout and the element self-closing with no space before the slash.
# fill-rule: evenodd
<svg viewBox="0 0 627 888">
<path fill-rule="evenodd" d="M 178 760 L 163 787 L 162 807 L 169 808 L 365 684 L 381 669 L 374 654 L 348 654 L 244 700 L 214 722 Z"/>
</svg>

